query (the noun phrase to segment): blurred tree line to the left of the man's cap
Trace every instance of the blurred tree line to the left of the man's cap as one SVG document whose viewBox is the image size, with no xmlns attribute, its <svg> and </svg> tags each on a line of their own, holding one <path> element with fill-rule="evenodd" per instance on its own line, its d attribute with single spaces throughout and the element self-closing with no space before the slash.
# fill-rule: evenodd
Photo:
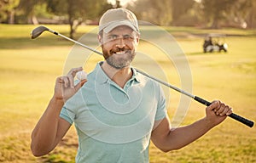
<svg viewBox="0 0 256 163">
<path fill-rule="evenodd" d="M 68 24 L 70 37 L 78 26 L 113 6 L 107 0 L 0 0 L 0 23 Z"/>
</svg>

